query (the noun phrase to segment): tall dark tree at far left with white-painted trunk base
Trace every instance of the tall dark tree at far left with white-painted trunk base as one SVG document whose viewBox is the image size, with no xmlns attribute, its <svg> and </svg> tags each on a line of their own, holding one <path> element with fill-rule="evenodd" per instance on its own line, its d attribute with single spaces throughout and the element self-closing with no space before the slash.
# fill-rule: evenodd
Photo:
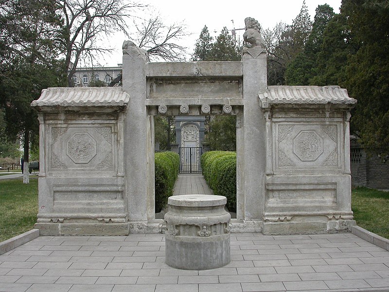
<svg viewBox="0 0 389 292">
<path fill-rule="evenodd" d="M 61 25 L 55 0 L 4 0 L 0 8 L 0 106 L 10 140 L 21 135 L 28 170 L 29 146 L 37 132 L 30 103 L 61 81 L 55 30 Z M 28 183 L 25 171 L 24 183 Z"/>
</svg>

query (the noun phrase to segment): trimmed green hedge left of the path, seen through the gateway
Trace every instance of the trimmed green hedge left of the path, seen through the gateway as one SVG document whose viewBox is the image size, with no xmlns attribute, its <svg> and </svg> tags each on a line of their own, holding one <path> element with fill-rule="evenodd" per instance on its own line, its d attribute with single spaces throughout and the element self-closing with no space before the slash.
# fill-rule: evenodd
<svg viewBox="0 0 389 292">
<path fill-rule="evenodd" d="M 175 152 L 155 153 L 155 212 L 159 213 L 173 195 L 179 171 L 179 156 Z"/>
</svg>

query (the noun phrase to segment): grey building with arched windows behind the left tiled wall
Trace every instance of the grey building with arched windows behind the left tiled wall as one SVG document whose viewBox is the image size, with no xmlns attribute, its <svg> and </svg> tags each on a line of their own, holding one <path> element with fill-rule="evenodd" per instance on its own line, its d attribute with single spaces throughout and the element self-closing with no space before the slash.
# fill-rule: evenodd
<svg viewBox="0 0 389 292">
<path fill-rule="evenodd" d="M 89 87 L 93 81 L 102 81 L 107 86 L 113 79 L 122 73 L 122 64 L 117 67 L 85 67 L 76 68 L 71 79 L 74 87 Z"/>
</svg>

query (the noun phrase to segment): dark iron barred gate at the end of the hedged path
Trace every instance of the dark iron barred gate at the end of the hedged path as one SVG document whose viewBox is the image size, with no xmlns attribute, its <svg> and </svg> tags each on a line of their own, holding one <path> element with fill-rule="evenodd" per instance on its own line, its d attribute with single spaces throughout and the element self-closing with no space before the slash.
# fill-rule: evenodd
<svg viewBox="0 0 389 292">
<path fill-rule="evenodd" d="M 203 147 L 179 147 L 179 173 L 201 173 Z"/>
</svg>

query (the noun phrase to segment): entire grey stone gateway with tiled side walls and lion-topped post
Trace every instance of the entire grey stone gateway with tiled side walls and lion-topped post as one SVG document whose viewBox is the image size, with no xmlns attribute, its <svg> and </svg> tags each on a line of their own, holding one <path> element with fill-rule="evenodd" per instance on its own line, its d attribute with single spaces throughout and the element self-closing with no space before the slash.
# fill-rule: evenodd
<svg viewBox="0 0 389 292">
<path fill-rule="evenodd" d="M 40 234 L 161 232 L 154 116 L 217 114 L 236 115 L 231 232 L 350 231 L 349 121 L 356 100 L 338 86 L 267 86 L 257 32 L 237 62 L 152 63 L 126 41 L 122 88 L 43 90 L 32 103 L 40 122 Z"/>
</svg>

